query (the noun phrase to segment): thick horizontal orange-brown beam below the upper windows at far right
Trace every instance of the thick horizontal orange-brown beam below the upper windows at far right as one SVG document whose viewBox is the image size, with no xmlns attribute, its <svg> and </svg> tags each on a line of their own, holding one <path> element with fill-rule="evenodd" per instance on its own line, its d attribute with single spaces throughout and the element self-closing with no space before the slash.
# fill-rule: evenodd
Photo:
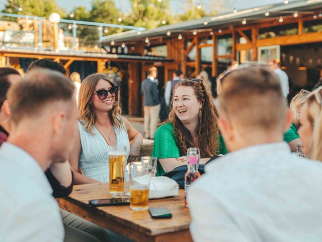
<svg viewBox="0 0 322 242">
<path fill-rule="evenodd" d="M 301 35 L 290 35 L 290 36 L 280 36 L 271 39 L 259 39 L 257 40 L 257 46 L 267 46 L 267 45 L 292 45 L 292 44 L 304 44 L 304 43 L 314 43 L 322 42 L 321 33 L 307 33 Z"/>
</svg>

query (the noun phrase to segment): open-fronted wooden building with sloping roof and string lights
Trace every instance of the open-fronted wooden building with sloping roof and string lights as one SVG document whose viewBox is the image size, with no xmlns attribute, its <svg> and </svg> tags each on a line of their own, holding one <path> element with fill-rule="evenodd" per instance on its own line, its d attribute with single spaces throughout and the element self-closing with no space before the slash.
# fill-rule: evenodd
<svg viewBox="0 0 322 242">
<path fill-rule="evenodd" d="M 127 53 L 120 48 L 124 45 Z M 140 83 L 151 66 L 158 68 L 163 86 L 177 69 L 186 77 L 205 70 L 213 82 L 233 60 L 246 63 L 279 58 L 290 78 L 291 92 L 309 89 L 322 71 L 322 0 L 269 5 L 109 35 L 103 38 L 103 47 L 124 55 L 160 58 L 127 64 L 128 112 L 132 115 L 141 115 Z"/>
</svg>

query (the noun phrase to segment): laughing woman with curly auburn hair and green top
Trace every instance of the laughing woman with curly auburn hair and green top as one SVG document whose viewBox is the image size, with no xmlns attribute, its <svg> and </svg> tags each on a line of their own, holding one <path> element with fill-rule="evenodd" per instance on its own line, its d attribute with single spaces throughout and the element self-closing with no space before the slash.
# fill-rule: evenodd
<svg viewBox="0 0 322 242">
<path fill-rule="evenodd" d="M 217 116 L 210 94 L 201 79 L 183 79 L 172 98 L 169 120 L 154 136 L 152 156 L 158 158 L 156 175 L 187 164 L 189 147 L 200 149 L 200 164 L 205 164 L 220 151 Z"/>
</svg>

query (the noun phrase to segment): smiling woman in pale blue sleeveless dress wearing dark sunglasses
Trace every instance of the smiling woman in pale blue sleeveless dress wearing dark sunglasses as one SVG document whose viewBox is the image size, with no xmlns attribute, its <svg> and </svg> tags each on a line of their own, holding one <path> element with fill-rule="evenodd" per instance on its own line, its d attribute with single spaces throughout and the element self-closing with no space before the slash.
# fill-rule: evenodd
<svg viewBox="0 0 322 242">
<path fill-rule="evenodd" d="M 121 115 L 119 87 L 104 74 L 84 79 L 79 89 L 78 109 L 79 132 L 70 158 L 75 184 L 106 183 L 108 146 L 126 146 L 127 162 L 131 162 L 139 155 L 143 137 Z M 77 173 L 78 169 L 84 175 Z"/>
</svg>

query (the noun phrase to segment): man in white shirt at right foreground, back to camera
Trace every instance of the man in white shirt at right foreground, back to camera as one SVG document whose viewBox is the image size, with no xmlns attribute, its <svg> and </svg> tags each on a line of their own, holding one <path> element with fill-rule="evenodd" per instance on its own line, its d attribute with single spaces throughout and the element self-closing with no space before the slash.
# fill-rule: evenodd
<svg viewBox="0 0 322 242">
<path fill-rule="evenodd" d="M 221 79 L 218 126 L 230 151 L 205 166 L 188 204 L 193 240 L 322 241 L 322 163 L 291 153 L 291 113 L 266 67 Z"/>
</svg>

